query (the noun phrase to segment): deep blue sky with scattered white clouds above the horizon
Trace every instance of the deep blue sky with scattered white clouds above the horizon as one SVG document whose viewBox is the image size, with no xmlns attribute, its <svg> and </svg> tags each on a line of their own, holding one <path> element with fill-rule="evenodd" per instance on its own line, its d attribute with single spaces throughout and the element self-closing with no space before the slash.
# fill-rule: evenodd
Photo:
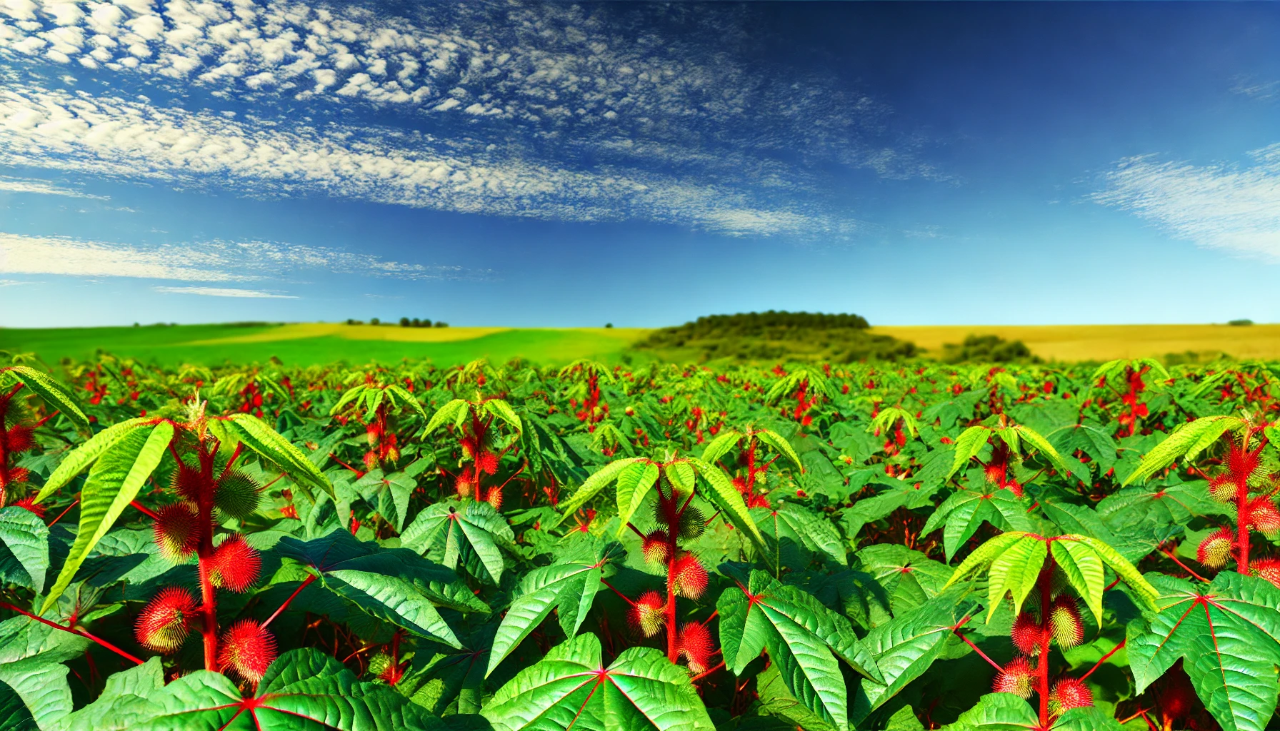
<svg viewBox="0 0 1280 731">
<path fill-rule="evenodd" d="M 1280 6 L 0 0 L 0 326 L 1280 321 Z"/>
</svg>

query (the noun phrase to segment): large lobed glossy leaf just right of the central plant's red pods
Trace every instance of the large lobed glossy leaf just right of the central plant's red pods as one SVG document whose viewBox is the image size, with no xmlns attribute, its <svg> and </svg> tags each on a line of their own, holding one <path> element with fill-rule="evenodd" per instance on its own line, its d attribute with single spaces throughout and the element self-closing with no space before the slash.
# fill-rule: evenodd
<svg viewBox="0 0 1280 731">
<path fill-rule="evenodd" d="M 762 650 L 768 652 L 791 694 L 837 728 L 849 725 L 849 694 L 832 650 L 861 675 L 881 679 L 847 620 L 763 571 L 753 571 L 746 586 L 726 589 L 716 609 L 730 671 L 740 673 Z"/>
</svg>

